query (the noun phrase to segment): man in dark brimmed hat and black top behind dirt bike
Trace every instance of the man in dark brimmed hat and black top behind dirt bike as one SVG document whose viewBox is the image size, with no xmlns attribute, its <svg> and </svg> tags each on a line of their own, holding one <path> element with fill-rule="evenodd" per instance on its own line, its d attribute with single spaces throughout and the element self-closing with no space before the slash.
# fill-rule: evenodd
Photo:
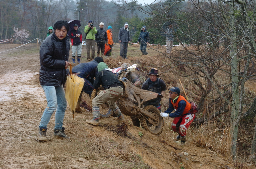
<svg viewBox="0 0 256 169">
<path fill-rule="evenodd" d="M 158 78 L 158 70 L 156 68 L 152 68 L 149 70 L 149 73 L 147 75 L 149 76 L 149 78 L 143 83 L 141 89 L 156 92 L 163 95 L 164 91 L 166 90 L 166 85 L 162 79 Z M 161 112 L 160 101 L 161 98 L 156 98 L 147 101 L 144 105 L 153 105 L 156 108 L 158 108 Z"/>
</svg>

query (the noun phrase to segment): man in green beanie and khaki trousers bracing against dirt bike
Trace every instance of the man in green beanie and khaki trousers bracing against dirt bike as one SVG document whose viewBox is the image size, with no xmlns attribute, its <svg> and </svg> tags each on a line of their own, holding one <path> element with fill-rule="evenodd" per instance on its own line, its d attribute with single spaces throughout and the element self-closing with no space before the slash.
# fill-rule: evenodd
<svg viewBox="0 0 256 169">
<path fill-rule="evenodd" d="M 100 105 L 108 102 L 109 107 L 113 110 L 120 121 L 124 121 L 124 115 L 121 113 L 116 101 L 123 95 L 123 85 L 116 75 L 108 69 L 104 62 L 98 64 L 98 74 L 93 83 L 94 89 L 100 85 L 104 88 L 94 99 L 92 99 L 92 120 L 86 120 L 87 123 L 98 125 L 100 119 Z"/>
</svg>

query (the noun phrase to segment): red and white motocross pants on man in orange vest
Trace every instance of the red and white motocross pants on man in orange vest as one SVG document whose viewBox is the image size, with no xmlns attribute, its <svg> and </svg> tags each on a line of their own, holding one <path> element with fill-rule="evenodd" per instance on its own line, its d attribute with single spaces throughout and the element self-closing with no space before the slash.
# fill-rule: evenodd
<svg viewBox="0 0 256 169">
<path fill-rule="evenodd" d="M 177 132 L 180 136 L 186 136 L 186 132 L 192 121 L 195 119 L 195 114 L 184 114 L 180 117 L 175 117 L 172 121 L 172 131 Z"/>
</svg>

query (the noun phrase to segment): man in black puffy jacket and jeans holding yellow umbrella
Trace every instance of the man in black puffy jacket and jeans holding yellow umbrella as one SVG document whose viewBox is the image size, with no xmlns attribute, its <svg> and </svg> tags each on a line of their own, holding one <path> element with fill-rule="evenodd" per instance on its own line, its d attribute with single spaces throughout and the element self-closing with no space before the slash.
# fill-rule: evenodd
<svg viewBox="0 0 256 169">
<path fill-rule="evenodd" d="M 67 21 L 57 21 L 53 26 L 54 32 L 47 36 L 40 47 L 39 81 L 44 89 L 47 107 L 42 115 L 37 140 L 48 141 L 46 137 L 47 125 L 55 112 L 54 137 L 69 138 L 62 127 L 67 101 L 63 85 L 66 83 L 66 69 L 70 65 L 69 25 Z"/>
</svg>

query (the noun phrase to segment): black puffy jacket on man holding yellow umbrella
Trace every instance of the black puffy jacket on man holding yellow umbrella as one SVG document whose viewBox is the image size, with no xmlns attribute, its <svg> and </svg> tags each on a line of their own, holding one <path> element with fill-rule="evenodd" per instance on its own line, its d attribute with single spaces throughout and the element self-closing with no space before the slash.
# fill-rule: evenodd
<svg viewBox="0 0 256 169">
<path fill-rule="evenodd" d="M 60 40 L 53 32 L 40 46 L 39 81 L 41 85 L 59 87 L 66 83 L 65 61 L 68 61 L 70 49 L 68 40 L 68 35 Z"/>
</svg>

